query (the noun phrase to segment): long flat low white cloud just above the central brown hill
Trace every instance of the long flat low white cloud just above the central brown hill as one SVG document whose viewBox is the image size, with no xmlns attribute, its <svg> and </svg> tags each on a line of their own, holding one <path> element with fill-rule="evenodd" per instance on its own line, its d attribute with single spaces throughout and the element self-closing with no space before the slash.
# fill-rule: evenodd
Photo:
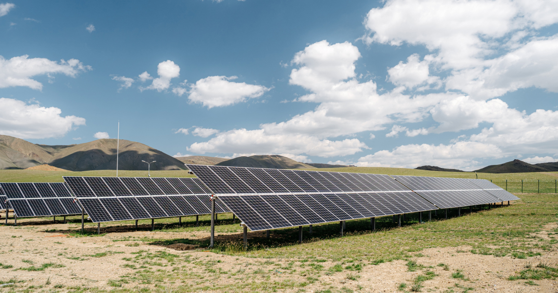
<svg viewBox="0 0 558 293">
<path fill-rule="evenodd" d="M 367 148 L 358 139 L 320 140 L 307 135 L 282 134 L 268 135 L 259 130 L 230 130 L 215 135 L 214 138 L 202 143 L 194 143 L 189 152 L 204 153 L 253 153 L 253 154 L 302 154 L 319 157 L 348 155 Z"/>
</svg>

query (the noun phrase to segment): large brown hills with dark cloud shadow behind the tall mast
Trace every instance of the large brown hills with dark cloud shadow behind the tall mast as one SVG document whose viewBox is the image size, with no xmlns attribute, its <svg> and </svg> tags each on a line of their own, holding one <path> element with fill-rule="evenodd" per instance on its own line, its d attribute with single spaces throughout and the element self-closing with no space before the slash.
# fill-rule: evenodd
<svg viewBox="0 0 558 293">
<path fill-rule="evenodd" d="M 49 164 L 70 171 L 116 169 L 116 139 L 99 139 L 74 145 L 41 145 L 0 135 L 0 169 L 23 169 Z M 185 169 L 184 163 L 160 150 L 135 141 L 120 140 L 118 169 L 147 170 Z"/>
</svg>

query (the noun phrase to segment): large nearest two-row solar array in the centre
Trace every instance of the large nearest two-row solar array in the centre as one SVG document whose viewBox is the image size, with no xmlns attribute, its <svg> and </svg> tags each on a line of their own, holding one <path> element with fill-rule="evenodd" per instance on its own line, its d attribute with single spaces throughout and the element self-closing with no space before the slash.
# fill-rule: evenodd
<svg viewBox="0 0 558 293">
<path fill-rule="evenodd" d="M 186 166 L 252 231 L 437 209 L 387 175 Z"/>
</svg>

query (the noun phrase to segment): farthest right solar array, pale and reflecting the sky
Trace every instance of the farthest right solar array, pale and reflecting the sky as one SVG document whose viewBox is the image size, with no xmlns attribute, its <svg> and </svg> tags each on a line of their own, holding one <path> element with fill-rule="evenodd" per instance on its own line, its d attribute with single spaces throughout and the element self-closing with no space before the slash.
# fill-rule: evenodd
<svg viewBox="0 0 558 293">
<path fill-rule="evenodd" d="M 395 175 L 392 177 L 440 209 L 519 199 L 484 179 Z"/>
</svg>

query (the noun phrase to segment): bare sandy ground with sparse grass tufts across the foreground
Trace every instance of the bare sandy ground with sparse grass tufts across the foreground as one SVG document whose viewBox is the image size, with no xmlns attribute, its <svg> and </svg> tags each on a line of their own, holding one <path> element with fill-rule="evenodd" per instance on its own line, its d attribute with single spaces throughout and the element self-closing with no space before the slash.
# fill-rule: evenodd
<svg viewBox="0 0 558 293">
<path fill-rule="evenodd" d="M 52 220 L 44 219 L 20 219 L 18 224 L 21 225 L 0 226 L 0 239 L 4 244 L 0 247 L 0 280 L 3 282 L 11 279 L 16 281 L 14 287 L 0 287 L 0 292 L 24 290 L 29 287 L 63 292 L 76 286 L 97 287 L 105 290 L 112 290 L 118 286 L 129 289 L 150 289 L 158 285 L 174 287 L 200 283 L 195 278 L 163 280 L 158 283 L 137 279 L 115 285 L 112 280 L 121 280 L 122 276 L 138 274 L 138 268 L 129 265 L 131 264 L 129 259 L 141 255 L 141 251 L 145 251 L 143 253 L 177 254 L 181 259 L 193 260 L 191 262 L 173 261 L 168 265 L 159 264 L 154 269 L 158 270 L 158 273 L 172 274 L 172 272 L 181 271 L 190 272 L 190 275 L 194 272 L 199 275 L 205 274 L 208 277 L 203 282 L 208 287 L 204 291 L 208 292 L 214 292 L 213 286 L 231 285 L 233 287 L 220 287 L 221 289 L 216 291 L 233 290 L 235 282 L 272 283 L 309 280 L 305 273 L 301 273 L 309 267 L 302 267 L 304 264 L 296 262 L 293 264 L 291 259 L 224 256 L 201 250 L 177 251 L 140 241 L 113 241 L 124 238 L 134 239 L 134 237 L 135 239 L 144 237 L 157 239 L 204 238 L 209 236 L 205 232 L 126 231 L 108 233 L 102 237 L 68 237 L 66 234 L 52 230 L 78 229 L 78 225 L 53 224 Z M 538 235 L 548 237 L 547 231 L 555 229 L 556 226 L 556 223 L 546 225 Z M 241 235 L 238 234 L 239 237 Z M 405 282 L 411 285 L 415 277 L 424 274 L 425 271 L 433 271 L 436 276 L 432 280 L 422 283 L 424 286 L 421 289 L 422 292 L 558 292 L 558 283 L 555 280 L 535 280 L 531 283 L 532 285 L 526 284 L 526 280 L 507 280 L 509 276 L 524 270 L 529 263 L 533 264 L 533 267 L 539 262 L 556 266 L 558 255 L 554 248 L 550 251 L 540 251 L 541 256 L 527 257 L 527 259 L 472 254 L 469 252 L 470 249 L 470 247 L 425 249 L 418 252 L 422 256 L 419 255 L 420 257 L 413 259 L 426 267 L 432 267 L 414 272 L 408 271 L 406 261 L 393 261 L 378 265 L 366 263 L 358 272 L 341 271 L 331 272 L 328 275 L 323 272 L 326 272 L 335 263 L 323 262 L 320 263 L 324 267 L 322 273 L 311 275 L 309 271 L 309 276 L 316 276 L 317 280 L 304 286 L 304 290 L 306 292 L 324 290 L 331 292 L 401 292 L 398 290 L 400 283 Z M 124 258 L 127 258 L 128 261 Z M 30 267 L 40 268 L 45 263 L 50 263 L 50 267 L 44 268 L 44 270 L 22 270 L 22 268 Z M 440 263 L 447 264 L 448 267 L 444 269 L 444 267 L 438 266 Z M 139 264 L 141 263 L 133 265 Z M 211 264 L 213 271 L 205 270 L 208 264 Z M 287 273 L 292 270 L 288 268 L 289 266 L 296 268 L 298 272 Z M 258 274 L 257 270 L 264 273 Z M 223 277 L 215 277 L 215 274 L 219 274 L 219 272 L 228 273 L 223 274 Z M 452 274 L 455 272 L 461 272 L 465 277 L 453 278 Z M 353 274 L 359 277 L 351 280 L 349 276 Z M 60 286 L 60 284 L 64 286 Z M 467 288 L 472 289 L 468 291 Z M 301 287 L 288 287 L 277 291 L 300 292 L 300 289 Z M 243 290 L 246 289 L 239 289 L 239 291 Z M 410 291 L 410 287 L 405 290 Z"/>
</svg>

